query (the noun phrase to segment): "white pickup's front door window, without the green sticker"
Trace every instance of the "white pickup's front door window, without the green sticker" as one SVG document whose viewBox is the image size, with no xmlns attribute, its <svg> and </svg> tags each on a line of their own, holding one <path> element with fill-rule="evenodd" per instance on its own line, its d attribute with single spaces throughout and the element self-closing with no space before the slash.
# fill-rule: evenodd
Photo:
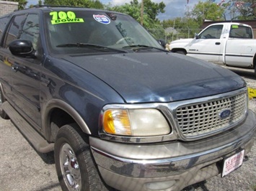
<svg viewBox="0 0 256 191">
<path fill-rule="evenodd" d="M 200 35 L 200 39 L 220 39 L 223 25 L 213 25 L 204 30 Z"/>
</svg>

